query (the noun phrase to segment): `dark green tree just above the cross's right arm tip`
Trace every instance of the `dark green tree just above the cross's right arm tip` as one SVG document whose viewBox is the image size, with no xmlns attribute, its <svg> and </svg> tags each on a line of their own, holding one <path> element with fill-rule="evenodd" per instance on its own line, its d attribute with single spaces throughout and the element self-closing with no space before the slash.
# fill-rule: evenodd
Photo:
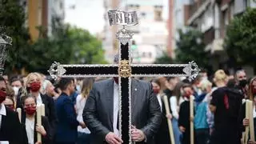
<svg viewBox="0 0 256 144">
<path fill-rule="evenodd" d="M 176 62 L 197 62 L 200 67 L 209 67 L 210 53 L 206 52 L 206 45 L 202 41 L 203 34 L 194 29 L 178 30 L 179 39 L 175 50 Z"/>
</svg>

